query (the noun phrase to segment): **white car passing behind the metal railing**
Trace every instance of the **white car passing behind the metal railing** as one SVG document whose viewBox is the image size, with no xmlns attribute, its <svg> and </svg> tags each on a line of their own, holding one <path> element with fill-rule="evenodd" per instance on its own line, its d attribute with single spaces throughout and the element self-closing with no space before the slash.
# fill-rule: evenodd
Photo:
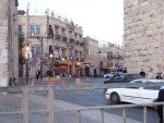
<svg viewBox="0 0 164 123">
<path fill-rule="evenodd" d="M 164 79 L 134 79 L 132 83 L 164 83 Z M 105 91 L 106 99 L 112 103 L 131 102 L 131 103 L 149 103 L 155 102 L 157 99 L 159 90 L 162 87 L 128 87 L 128 88 L 108 88 Z"/>
</svg>

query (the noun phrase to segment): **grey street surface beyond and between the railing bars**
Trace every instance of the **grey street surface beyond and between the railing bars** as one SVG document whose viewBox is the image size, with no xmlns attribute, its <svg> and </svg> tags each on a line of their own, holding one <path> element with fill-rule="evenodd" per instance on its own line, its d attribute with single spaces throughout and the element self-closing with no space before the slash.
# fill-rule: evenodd
<svg viewBox="0 0 164 123">
<path fill-rule="evenodd" d="M 60 81 L 37 81 L 36 85 L 67 85 L 67 84 L 101 84 L 105 78 L 82 78 L 82 79 L 60 79 Z M 22 82 L 20 85 L 25 85 L 25 82 Z M 19 86 L 20 86 L 19 85 Z M 58 91 L 55 93 L 55 107 L 58 109 L 72 109 L 72 108 L 82 108 L 82 107 L 94 107 L 94 106 L 108 106 L 110 104 L 108 100 L 104 98 L 104 90 L 79 90 L 79 91 Z M 46 109 L 46 98 L 45 95 L 37 95 L 32 96 L 30 99 L 30 109 Z M 9 97 L 9 95 L 0 96 L 0 111 L 13 111 L 13 110 L 21 110 L 21 97 L 17 95 Z M 148 123 L 157 123 L 159 118 L 156 112 L 152 109 L 149 109 L 148 114 Z M 90 115 L 89 115 L 90 114 Z M 58 123 L 72 123 L 75 122 L 74 120 L 75 113 L 56 113 Z M 61 116 L 62 115 L 62 116 Z M 62 119 L 65 115 L 66 119 Z M 31 122 L 30 123 L 46 123 L 46 114 L 36 114 L 30 115 Z M 127 113 L 128 120 L 127 123 L 142 123 L 142 109 L 141 108 L 132 108 L 128 110 Z M 20 115 L 10 116 L 0 116 L 0 121 L 3 123 L 22 123 L 19 119 Z M 70 119 L 68 122 L 67 119 Z M 99 112 L 98 111 L 86 111 L 83 113 L 83 119 L 85 119 L 90 123 L 95 123 L 99 121 Z M 14 119 L 14 122 L 13 122 Z M 12 122 L 11 122 L 12 121 Z M 109 122 L 110 121 L 110 122 Z M 139 122 L 138 122 L 139 121 Z M 101 121 L 99 121 L 101 122 Z M 120 110 L 107 110 L 105 113 L 105 123 L 120 123 L 122 122 L 121 111 Z M 1 122 L 0 122 L 1 123 Z"/>
</svg>

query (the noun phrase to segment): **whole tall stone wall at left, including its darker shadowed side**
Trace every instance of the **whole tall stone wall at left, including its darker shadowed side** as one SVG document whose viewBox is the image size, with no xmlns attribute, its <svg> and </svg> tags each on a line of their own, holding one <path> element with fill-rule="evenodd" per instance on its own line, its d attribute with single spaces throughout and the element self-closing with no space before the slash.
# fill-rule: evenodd
<svg viewBox="0 0 164 123">
<path fill-rule="evenodd" d="M 0 86 L 19 77 L 17 0 L 0 0 Z"/>
</svg>

